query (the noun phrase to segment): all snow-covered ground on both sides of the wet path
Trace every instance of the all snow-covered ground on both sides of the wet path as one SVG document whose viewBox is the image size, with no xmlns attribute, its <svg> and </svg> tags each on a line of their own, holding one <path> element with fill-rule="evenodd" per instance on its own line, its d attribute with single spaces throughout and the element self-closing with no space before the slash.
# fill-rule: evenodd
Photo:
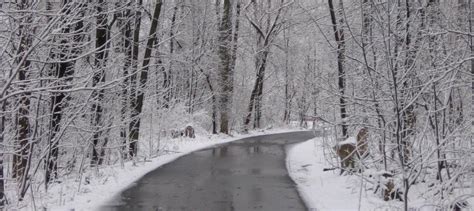
<svg viewBox="0 0 474 211">
<path fill-rule="evenodd" d="M 23 210 L 46 208 L 47 210 L 99 210 L 100 206 L 113 201 L 119 194 L 133 185 L 150 171 L 172 162 L 191 152 L 239 140 L 246 137 L 264 134 L 298 131 L 299 129 L 270 129 L 252 131 L 234 137 L 227 135 L 197 135 L 196 139 L 172 139 L 163 141 L 163 146 L 173 153 L 163 154 L 146 161 L 141 159 L 134 163 L 126 162 L 90 170 L 82 179 L 68 180 L 50 187 L 47 194 L 36 193 L 32 204 L 20 207 Z M 350 138 L 345 142 L 351 142 Z M 323 138 L 314 138 L 287 147 L 286 167 L 290 177 L 297 184 L 297 189 L 310 210 L 400 210 L 402 203 L 383 201 L 375 195 L 363 177 L 358 175 L 341 176 L 339 170 L 323 171 L 334 165 L 324 157 Z M 380 176 L 385 171 L 366 169 L 363 176 Z M 88 184 L 84 181 L 87 180 Z M 81 182 L 79 182 L 81 181 Z M 369 187 L 369 188 L 368 188 Z M 426 190 L 414 187 L 413 196 Z M 417 194 L 415 194 L 417 193 Z M 469 201 L 470 202 L 470 201 Z M 36 204 L 33 204 L 36 203 Z M 411 198 L 411 207 L 430 210 L 433 208 L 426 200 Z"/>
</svg>

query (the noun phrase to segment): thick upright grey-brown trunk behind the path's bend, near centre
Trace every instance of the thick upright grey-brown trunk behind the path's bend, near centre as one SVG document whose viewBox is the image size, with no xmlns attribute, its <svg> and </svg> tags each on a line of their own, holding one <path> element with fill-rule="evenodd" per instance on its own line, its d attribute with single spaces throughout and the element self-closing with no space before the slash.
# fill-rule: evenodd
<svg viewBox="0 0 474 211">
<path fill-rule="evenodd" d="M 224 0 L 224 11 L 219 25 L 219 110 L 220 132 L 229 134 L 230 104 L 232 102 L 233 72 L 232 55 L 232 6 L 230 0 Z"/>
</svg>

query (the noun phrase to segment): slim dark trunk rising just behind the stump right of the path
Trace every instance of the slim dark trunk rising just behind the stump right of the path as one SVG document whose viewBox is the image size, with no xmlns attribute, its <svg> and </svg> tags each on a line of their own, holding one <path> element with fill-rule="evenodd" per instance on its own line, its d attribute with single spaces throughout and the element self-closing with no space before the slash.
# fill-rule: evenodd
<svg viewBox="0 0 474 211">
<path fill-rule="evenodd" d="M 336 21 L 336 13 L 334 10 L 334 5 L 332 0 L 328 0 L 329 5 L 329 13 L 331 15 L 331 23 L 334 32 L 334 38 L 337 43 L 337 74 L 338 74 L 338 88 L 339 88 L 339 109 L 341 115 L 341 126 L 342 126 L 342 137 L 346 138 L 348 136 L 347 132 L 347 112 L 346 112 L 346 97 L 345 97 L 345 70 L 344 70 L 344 60 L 345 60 L 345 40 L 344 40 L 344 30 L 342 27 L 344 26 L 344 16 L 343 16 L 343 5 L 342 1 L 339 1 L 339 26 Z"/>
</svg>

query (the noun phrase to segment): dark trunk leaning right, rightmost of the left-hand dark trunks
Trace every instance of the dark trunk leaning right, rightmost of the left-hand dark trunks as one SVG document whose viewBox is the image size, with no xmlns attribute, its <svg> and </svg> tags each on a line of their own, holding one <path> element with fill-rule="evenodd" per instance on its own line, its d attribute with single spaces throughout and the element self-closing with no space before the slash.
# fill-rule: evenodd
<svg viewBox="0 0 474 211">
<path fill-rule="evenodd" d="M 148 34 L 148 39 L 146 42 L 145 53 L 143 56 L 142 70 L 140 71 L 140 81 L 137 89 L 137 99 L 135 111 L 132 113 L 132 128 L 130 130 L 130 156 L 134 157 L 137 155 L 137 142 L 140 137 L 140 117 L 142 113 L 143 102 L 145 100 L 145 88 L 148 80 L 148 69 L 150 64 L 150 57 L 152 49 L 156 43 L 156 31 L 158 28 L 158 18 L 161 13 L 162 1 L 158 0 L 155 5 L 155 10 L 153 12 L 153 19 L 151 21 L 150 32 Z"/>
</svg>

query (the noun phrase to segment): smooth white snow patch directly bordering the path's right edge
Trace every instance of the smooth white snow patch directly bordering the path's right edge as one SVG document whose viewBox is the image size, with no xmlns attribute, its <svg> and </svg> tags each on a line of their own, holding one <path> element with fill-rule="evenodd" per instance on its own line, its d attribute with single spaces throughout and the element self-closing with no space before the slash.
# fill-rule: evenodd
<svg viewBox="0 0 474 211">
<path fill-rule="evenodd" d="M 290 177 L 310 210 L 396 209 L 392 202 L 362 190 L 361 177 L 340 176 L 338 170 L 323 171 L 331 164 L 324 157 L 322 138 L 289 146 L 286 159 Z"/>
</svg>

